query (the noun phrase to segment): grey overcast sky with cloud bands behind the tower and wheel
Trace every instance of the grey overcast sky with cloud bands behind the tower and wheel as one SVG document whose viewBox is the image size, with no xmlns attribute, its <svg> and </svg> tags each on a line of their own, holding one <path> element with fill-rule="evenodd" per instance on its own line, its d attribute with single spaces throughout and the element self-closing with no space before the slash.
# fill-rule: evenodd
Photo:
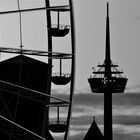
<svg viewBox="0 0 140 140">
<path fill-rule="evenodd" d="M 54 1 L 52 0 L 52 3 Z M 61 0 L 62 3 L 63 1 Z M 20 0 L 20 2 L 22 8 L 44 6 L 44 0 Z M 96 122 L 103 132 L 103 96 L 91 94 L 87 78 L 92 72 L 91 68 L 104 60 L 106 2 L 74 0 L 76 94 L 70 140 L 81 140 L 84 137 L 93 115 L 96 116 Z M 112 61 L 118 62 L 128 77 L 126 93 L 113 97 L 114 140 L 138 140 L 140 139 L 140 1 L 110 0 L 109 2 Z M 0 11 L 10 9 L 17 9 L 16 0 L 0 0 Z M 53 22 L 56 22 L 55 17 L 54 14 Z M 63 15 L 61 20 L 67 24 L 68 15 Z M 22 14 L 22 26 L 25 49 L 47 50 L 44 11 Z M 69 37 L 70 35 L 65 38 L 63 45 L 59 39 L 55 39 L 53 49 L 69 52 L 67 46 Z M 0 46 L 17 48 L 19 44 L 18 15 L 0 16 Z M 1 55 L 1 58 L 5 56 L 7 55 Z M 66 67 L 69 66 L 66 64 Z M 60 93 L 57 95 L 67 96 L 62 94 L 62 91 Z M 59 138 L 61 139 L 61 135 Z"/>
</svg>

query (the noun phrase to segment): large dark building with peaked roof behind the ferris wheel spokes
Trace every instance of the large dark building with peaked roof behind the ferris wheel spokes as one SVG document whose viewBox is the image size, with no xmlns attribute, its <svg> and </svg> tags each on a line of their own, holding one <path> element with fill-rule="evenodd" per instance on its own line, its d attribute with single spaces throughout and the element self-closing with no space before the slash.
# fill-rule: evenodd
<svg viewBox="0 0 140 140">
<path fill-rule="evenodd" d="M 24 55 L 0 62 L 0 80 L 43 93 L 47 90 L 47 74 L 47 63 Z M 20 91 L 12 94 L 10 90 L 0 87 L 0 115 L 15 120 L 19 125 L 41 135 L 45 105 L 19 96 L 18 92 Z M 34 96 L 38 97 L 38 95 Z M 44 101 L 47 103 L 46 99 Z M 51 136 L 48 130 L 46 133 Z M 8 136 L 0 130 L 0 137 L 7 139 Z"/>
</svg>

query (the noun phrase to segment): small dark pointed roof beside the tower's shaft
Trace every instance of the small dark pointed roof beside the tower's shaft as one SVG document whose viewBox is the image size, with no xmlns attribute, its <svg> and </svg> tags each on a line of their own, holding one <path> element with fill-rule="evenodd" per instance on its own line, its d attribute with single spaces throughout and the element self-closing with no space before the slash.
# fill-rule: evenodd
<svg viewBox="0 0 140 140">
<path fill-rule="evenodd" d="M 103 139 L 104 137 L 94 120 L 83 140 L 103 140 Z"/>
</svg>

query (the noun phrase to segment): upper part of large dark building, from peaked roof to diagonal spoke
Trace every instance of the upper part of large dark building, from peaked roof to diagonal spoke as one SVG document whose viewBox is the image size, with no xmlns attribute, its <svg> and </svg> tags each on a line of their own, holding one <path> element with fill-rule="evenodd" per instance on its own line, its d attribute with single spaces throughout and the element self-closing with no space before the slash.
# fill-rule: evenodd
<svg viewBox="0 0 140 140">
<path fill-rule="evenodd" d="M 0 80 L 46 92 L 48 64 L 18 55 L 0 62 Z"/>
</svg>

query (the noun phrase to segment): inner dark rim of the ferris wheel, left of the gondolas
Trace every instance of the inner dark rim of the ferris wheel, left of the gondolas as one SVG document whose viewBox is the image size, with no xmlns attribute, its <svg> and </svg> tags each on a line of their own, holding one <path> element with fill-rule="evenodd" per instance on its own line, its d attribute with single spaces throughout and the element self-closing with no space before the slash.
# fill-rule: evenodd
<svg viewBox="0 0 140 140">
<path fill-rule="evenodd" d="M 50 7 L 50 1 L 49 0 L 45 0 L 45 5 L 46 8 Z M 48 29 L 51 28 L 51 13 L 50 10 L 46 10 L 46 18 L 47 18 L 47 27 Z M 50 30 L 48 30 L 48 52 L 52 52 L 52 36 L 50 33 Z M 47 79 L 47 89 L 46 89 L 46 94 L 50 95 L 51 94 L 51 75 L 52 75 L 52 54 L 49 53 L 48 56 L 48 79 Z M 46 98 L 46 102 L 49 103 L 50 102 L 50 98 Z M 44 137 L 45 139 L 53 139 L 50 136 L 50 133 L 47 130 L 47 126 L 49 123 L 49 108 L 45 108 L 45 112 L 44 112 L 44 119 L 43 119 L 43 125 L 42 125 L 42 137 Z"/>
</svg>

